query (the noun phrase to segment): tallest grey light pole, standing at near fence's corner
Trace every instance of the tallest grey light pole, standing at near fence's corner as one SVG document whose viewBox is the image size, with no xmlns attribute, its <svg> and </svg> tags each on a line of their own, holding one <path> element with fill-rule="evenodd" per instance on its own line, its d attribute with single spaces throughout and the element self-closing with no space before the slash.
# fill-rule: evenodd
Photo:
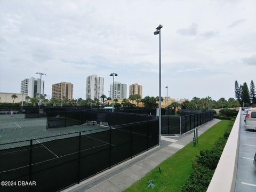
<svg viewBox="0 0 256 192">
<path fill-rule="evenodd" d="M 156 31 L 154 32 L 154 35 L 158 35 L 159 34 L 159 101 L 158 101 L 158 110 L 159 110 L 159 134 L 158 134 L 158 138 L 159 141 L 161 140 L 161 28 L 163 26 L 159 25 L 156 28 Z M 158 141 L 158 142 L 159 142 Z"/>
</svg>

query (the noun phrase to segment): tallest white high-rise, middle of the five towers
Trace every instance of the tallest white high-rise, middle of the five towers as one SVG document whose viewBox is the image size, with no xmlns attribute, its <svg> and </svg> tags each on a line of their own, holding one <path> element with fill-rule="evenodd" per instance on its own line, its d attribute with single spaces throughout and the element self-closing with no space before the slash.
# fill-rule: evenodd
<svg viewBox="0 0 256 192">
<path fill-rule="evenodd" d="M 100 96 L 103 94 L 104 78 L 98 77 L 98 75 L 90 75 L 86 78 L 86 99 L 95 98 L 100 100 Z"/>
</svg>

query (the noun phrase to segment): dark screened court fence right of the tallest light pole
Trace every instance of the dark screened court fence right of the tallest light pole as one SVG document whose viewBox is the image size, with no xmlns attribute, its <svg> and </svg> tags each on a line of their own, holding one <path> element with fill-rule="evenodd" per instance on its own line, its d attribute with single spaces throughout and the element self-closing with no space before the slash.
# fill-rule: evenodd
<svg viewBox="0 0 256 192">
<path fill-rule="evenodd" d="M 187 111 L 186 113 L 190 113 Z M 213 119 L 213 111 L 185 116 L 162 116 L 163 135 L 183 134 Z"/>
</svg>

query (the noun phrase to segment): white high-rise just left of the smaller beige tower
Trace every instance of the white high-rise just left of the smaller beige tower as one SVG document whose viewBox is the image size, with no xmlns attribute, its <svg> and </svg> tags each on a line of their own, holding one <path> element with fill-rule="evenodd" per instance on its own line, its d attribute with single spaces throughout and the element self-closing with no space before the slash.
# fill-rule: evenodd
<svg viewBox="0 0 256 192">
<path fill-rule="evenodd" d="M 109 97 L 113 99 L 125 99 L 127 94 L 127 84 L 114 82 L 114 97 L 113 97 L 113 83 L 110 84 Z"/>
</svg>

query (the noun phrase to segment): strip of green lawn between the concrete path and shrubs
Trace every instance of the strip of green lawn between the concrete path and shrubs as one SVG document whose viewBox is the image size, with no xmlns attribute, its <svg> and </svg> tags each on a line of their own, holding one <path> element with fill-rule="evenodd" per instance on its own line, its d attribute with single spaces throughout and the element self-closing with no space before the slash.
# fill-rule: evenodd
<svg viewBox="0 0 256 192">
<path fill-rule="evenodd" d="M 201 150 L 211 149 L 214 142 L 223 137 L 228 124 L 228 120 L 222 120 L 215 124 L 198 137 L 196 147 L 193 147 L 193 143 L 190 142 L 125 191 L 181 191 L 192 172 L 195 156 L 199 155 Z M 161 173 L 158 167 L 161 168 Z M 155 186 L 148 188 L 148 180 L 151 179 Z"/>
</svg>

